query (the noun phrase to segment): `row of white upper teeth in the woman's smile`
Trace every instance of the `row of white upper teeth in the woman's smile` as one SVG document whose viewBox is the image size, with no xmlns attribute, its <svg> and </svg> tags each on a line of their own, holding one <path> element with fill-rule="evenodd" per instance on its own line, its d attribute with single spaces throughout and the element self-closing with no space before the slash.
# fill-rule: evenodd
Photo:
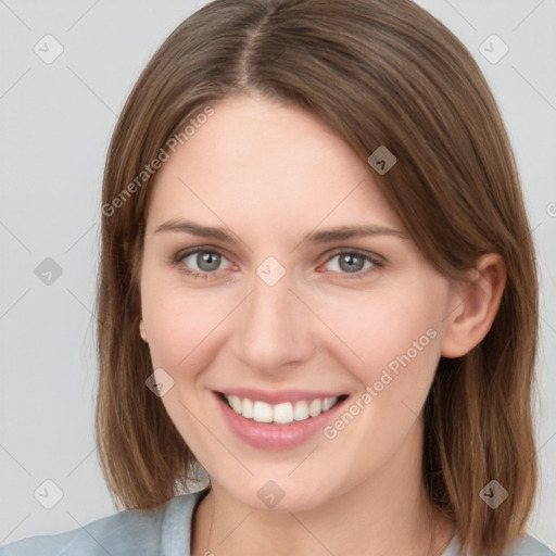
<svg viewBox="0 0 556 556">
<path fill-rule="evenodd" d="M 271 405 L 266 402 L 252 401 L 248 397 L 237 395 L 225 395 L 230 407 L 238 415 L 256 422 L 274 422 L 276 425 L 289 425 L 295 421 L 304 421 L 316 417 L 323 412 L 328 412 L 338 402 L 338 397 L 325 397 L 324 400 L 312 400 L 306 402 L 300 400 L 293 405 L 290 402 Z"/>
</svg>

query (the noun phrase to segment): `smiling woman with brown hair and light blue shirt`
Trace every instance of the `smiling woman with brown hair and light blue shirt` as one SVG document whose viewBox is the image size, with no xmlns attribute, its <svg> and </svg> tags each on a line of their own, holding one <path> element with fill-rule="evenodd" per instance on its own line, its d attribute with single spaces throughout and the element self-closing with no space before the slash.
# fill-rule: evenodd
<svg viewBox="0 0 556 556">
<path fill-rule="evenodd" d="M 124 108 L 102 213 L 97 440 L 126 511 L 0 554 L 552 554 L 525 534 L 515 161 L 426 11 L 203 7 Z"/>
</svg>

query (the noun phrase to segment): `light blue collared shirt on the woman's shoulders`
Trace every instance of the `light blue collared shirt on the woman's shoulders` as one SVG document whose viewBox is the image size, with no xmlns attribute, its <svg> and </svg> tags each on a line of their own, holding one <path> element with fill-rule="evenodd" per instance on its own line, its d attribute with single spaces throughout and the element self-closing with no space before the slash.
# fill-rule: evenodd
<svg viewBox="0 0 556 556">
<path fill-rule="evenodd" d="M 176 496 L 152 510 L 127 509 L 65 533 L 29 536 L 0 546 L 0 556 L 190 556 L 191 518 L 207 490 Z M 460 556 L 453 536 L 441 556 Z M 507 556 L 555 556 L 525 536 Z"/>
</svg>

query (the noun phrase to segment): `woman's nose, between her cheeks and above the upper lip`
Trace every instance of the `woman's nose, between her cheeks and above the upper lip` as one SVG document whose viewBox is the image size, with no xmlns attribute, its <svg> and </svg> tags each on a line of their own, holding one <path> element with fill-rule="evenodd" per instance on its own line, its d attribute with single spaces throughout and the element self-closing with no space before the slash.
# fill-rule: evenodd
<svg viewBox="0 0 556 556">
<path fill-rule="evenodd" d="M 255 276 L 235 312 L 233 352 L 247 368 L 281 374 L 311 358 L 314 323 L 291 286 L 288 274 L 274 286 Z"/>
</svg>

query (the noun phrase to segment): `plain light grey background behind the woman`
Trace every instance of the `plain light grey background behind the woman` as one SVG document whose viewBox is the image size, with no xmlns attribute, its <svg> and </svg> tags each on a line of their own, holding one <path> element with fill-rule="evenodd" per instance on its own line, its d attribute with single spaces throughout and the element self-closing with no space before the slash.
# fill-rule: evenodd
<svg viewBox="0 0 556 556">
<path fill-rule="evenodd" d="M 204 3 L 0 1 L 0 543 L 67 531 L 115 511 L 93 445 L 91 311 L 104 157 L 140 71 L 176 25 Z M 542 289 L 535 403 L 542 477 L 529 533 L 554 549 L 556 2 L 418 3 L 478 60 L 521 174 Z M 34 51 L 47 34 L 64 49 L 51 64 Z M 479 50 L 492 34 L 509 47 L 495 64 Z M 41 280 L 36 274 L 47 257 L 62 270 L 50 285 L 42 281 L 48 275 Z M 56 488 L 47 483 L 48 479 L 63 493 L 52 509 L 34 496 L 39 489 L 49 493 L 43 503 L 54 500 Z"/>
</svg>

